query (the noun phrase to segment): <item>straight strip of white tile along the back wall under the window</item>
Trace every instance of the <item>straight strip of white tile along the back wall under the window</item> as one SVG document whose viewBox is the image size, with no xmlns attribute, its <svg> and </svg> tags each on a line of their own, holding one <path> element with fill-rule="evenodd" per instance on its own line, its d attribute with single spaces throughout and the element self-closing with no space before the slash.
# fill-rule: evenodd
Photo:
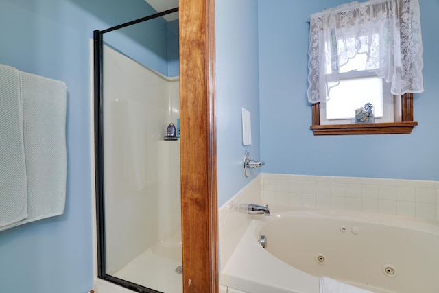
<svg viewBox="0 0 439 293">
<path fill-rule="evenodd" d="M 264 204 L 439 220 L 439 181 L 260 174 Z"/>
</svg>

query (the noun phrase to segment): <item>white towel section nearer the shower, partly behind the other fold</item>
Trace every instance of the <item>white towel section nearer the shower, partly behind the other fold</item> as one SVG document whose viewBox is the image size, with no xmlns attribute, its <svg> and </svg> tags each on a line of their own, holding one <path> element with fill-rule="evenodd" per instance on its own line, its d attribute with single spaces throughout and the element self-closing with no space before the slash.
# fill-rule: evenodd
<svg viewBox="0 0 439 293">
<path fill-rule="evenodd" d="M 64 82 L 21 73 L 28 217 L 20 224 L 64 213 L 67 181 Z"/>
</svg>

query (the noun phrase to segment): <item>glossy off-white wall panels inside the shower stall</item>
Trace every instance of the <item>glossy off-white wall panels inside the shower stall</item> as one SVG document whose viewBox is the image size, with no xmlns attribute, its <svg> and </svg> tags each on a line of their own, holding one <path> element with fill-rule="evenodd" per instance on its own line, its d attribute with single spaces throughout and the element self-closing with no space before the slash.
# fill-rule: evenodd
<svg viewBox="0 0 439 293">
<path fill-rule="evenodd" d="M 179 80 L 104 46 L 106 272 L 158 244 L 180 243 Z"/>
</svg>

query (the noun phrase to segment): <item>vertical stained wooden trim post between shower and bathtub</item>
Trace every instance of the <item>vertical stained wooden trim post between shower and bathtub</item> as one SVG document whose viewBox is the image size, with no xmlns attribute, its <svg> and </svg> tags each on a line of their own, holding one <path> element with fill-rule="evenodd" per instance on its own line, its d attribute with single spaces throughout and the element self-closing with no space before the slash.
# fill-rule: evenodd
<svg viewBox="0 0 439 293">
<path fill-rule="evenodd" d="M 180 0 L 183 292 L 217 293 L 214 0 Z"/>
</svg>

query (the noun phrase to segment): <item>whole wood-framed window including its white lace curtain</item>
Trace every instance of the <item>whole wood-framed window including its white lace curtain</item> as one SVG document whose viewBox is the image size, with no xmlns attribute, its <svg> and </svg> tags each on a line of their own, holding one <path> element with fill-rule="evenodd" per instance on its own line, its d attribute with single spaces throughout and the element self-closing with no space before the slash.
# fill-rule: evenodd
<svg viewBox="0 0 439 293">
<path fill-rule="evenodd" d="M 410 133 L 413 93 L 423 91 L 421 55 L 418 0 L 353 2 L 311 15 L 314 134 Z M 366 103 L 375 123 L 355 124 Z"/>
</svg>

